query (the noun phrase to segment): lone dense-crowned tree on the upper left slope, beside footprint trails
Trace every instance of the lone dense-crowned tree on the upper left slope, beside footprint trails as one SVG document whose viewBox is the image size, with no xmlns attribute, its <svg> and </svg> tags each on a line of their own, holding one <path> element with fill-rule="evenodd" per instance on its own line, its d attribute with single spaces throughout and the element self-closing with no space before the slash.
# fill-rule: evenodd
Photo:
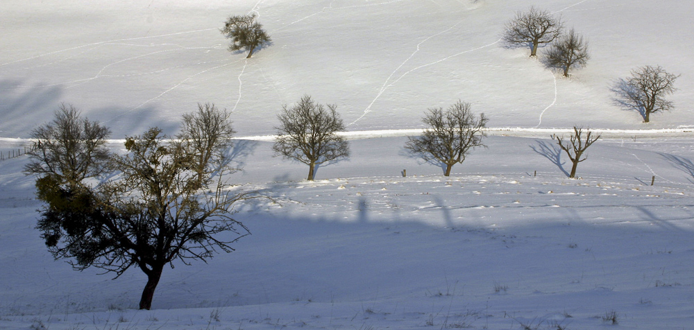
<svg viewBox="0 0 694 330">
<path fill-rule="evenodd" d="M 220 32 L 231 39 L 229 51 L 246 49 L 248 56 L 253 56 L 253 51 L 258 47 L 271 44 L 272 40 L 262 28 L 262 24 L 255 21 L 256 15 L 235 15 L 229 17 Z"/>
</svg>

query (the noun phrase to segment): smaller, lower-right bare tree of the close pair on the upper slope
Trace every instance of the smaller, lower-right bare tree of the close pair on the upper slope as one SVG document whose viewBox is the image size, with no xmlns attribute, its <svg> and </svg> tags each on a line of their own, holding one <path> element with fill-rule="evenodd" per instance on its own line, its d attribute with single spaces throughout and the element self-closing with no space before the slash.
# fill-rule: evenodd
<svg viewBox="0 0 694 330">
<path fill-rule="evenodd" d="M 590 58 L 588 42 L 572 28 L 568 35 L 552 44 L 546 61 L 550 67 L 564 69 L 564 76 L 568 77 L 568 70 L 571 67 L 585 67 Z"/>
</svg>

